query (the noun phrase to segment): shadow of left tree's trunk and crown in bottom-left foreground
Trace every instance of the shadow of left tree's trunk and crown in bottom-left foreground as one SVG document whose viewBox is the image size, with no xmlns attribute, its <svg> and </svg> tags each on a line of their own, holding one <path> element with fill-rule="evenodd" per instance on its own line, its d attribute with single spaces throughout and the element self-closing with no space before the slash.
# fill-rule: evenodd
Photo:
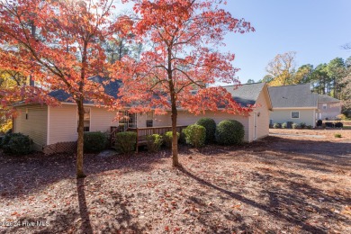
<svg viewBox="0 0 351 234">
<path fill-rule="evenodd" d="M 25 232 L 30 230 L 31 233 L 94 233 L 97 230 L 102 233 L 124 233 L 131 231 L 132 233 L 142 233 L 146 227 L 141 227 L 139 222 L 131 222 L 132 215 L 127 208 L 126 199 L 121 193 L 109 191 L 110 197 L 107 201 L 101 201 L 98 197 L 89 203 L 86 203 L 86 187 L 85 178 L 76 180 L 76 198 L 77 207 L 70 206 L 67 209 L 59 211 L 47 211 L 36 217 L 22 217 L 17 220 L 21 225 L 17 227 L 8 227 L 7 232 Z M 99 207 L 100 206 L 100 207 Z M 94 207 L 99 210 L 94 213 Z M 103 208 L 103 209 L 101 209 Z M 102 223 L 92 222 L 91 213 L 104 218 Z M 50 219 L 50 220 L 44 220 Z M 47 225 L 37 225 L 37 221 L 49 221 Z M 27 224 L 28 223 L 28 224 Z M 31 225 L 30 223 L 35 223 Z M 23 225 L 24 224 L 24 225 Z M 26 225 L 27 224 L 27 225 Z"/>
</svg>

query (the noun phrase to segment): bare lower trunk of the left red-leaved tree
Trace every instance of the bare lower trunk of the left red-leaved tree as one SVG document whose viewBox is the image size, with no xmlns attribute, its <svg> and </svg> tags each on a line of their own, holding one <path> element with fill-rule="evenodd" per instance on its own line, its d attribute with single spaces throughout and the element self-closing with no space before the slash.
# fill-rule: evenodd
<svg viewBox="0 0 351 234">
<path fill-rule="evenodd" d="M 78 107 L 78 141 L 76 148 L 76 177 L 84 178 L 83 153 L 84 153 L 84 106 L 83 98 L 76 101 Z"/>
</svg>

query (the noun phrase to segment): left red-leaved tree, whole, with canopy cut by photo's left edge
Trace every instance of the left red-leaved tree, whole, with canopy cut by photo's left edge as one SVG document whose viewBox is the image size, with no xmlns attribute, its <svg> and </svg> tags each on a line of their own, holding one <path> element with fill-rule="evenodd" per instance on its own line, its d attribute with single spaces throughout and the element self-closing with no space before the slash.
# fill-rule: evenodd
<svg viewBox="0 0 351 234">
<path fill-rule="evenodd" d="M 1 90 L 6 106 L 20 97 L 52 104 L 49 90 L 64 90 L 76 103 L 78 139 L 76 176 L 84 177 L 84 103 L 111 104 L 103 85 L 89 76 L 116 72 L 107 62 L 102 43 L 125 31 L 129 20 L 111 21 L 111 0 L 12 0 L 0 2 L 0 68 L 21 71 L 40 86 Z M 5 45 L 5 46 L 4 46 Z M 35 91 L 34 94 L 31 94 Z"/>
</svg>

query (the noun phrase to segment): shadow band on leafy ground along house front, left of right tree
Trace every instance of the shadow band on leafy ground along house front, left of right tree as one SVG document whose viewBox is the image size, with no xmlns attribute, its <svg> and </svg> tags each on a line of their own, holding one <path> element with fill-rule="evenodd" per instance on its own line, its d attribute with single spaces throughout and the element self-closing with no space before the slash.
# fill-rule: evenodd
<svg viewBox="0 0 351 234">
<path fill-rule="evenodd" d="M 87 154 L 84 157 L 86 175 L 99 175 L 106 171 L 149 171 L 158 161 L 169 157 L 163 150 L 156 155 L 148 152 L 133 155 L 99 157 Z M 45 156 L 42 153 L 14 157 L 0 152 L 0 198 L 11 198 L 35 193 L 49 184 L 76 177 L 76 157 L 73 154 Z"/>
</svg>

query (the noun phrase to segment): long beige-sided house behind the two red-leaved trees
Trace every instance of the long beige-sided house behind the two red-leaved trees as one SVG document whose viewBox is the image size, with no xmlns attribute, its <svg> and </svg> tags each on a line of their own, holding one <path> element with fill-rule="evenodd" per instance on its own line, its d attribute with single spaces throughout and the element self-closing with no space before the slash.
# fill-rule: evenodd
<svg viewBox="0 0 351 234">
<path fill-rule="evenodd" d="M 103 78 L 94 76 L 95 82 L 102 83 Z M 104 85 L 106 94 L 116 97 L 119 81 Z M 213 118 L 217 123 L 222 120 L 234 119 L 245 127 L 245 141 L 253 141 L 268 135 L 269 110 L 272 104 L 265 83 L 242 85 L 237 90 L 233 86 L 226 89 L 233 94 L 242 105 L 258 104 L 259 106 L 249 116 L 238 116 L 224 112 L 207 112 L 204 115 L 193 115 L 179 110 L 178 125 L 193 124 L 206 116 Z M 17 104 L 15 108 L 19 115 L 14 119 L 14 132 L 29 135 L 36 150 L 46 153 L 65 151 L 73 148 L 77 139 L 77 110 L 76 104 L 69 101 L 69 95 L 63 91 L 53 91 L 51 96 L 56 97 L 61 105 L 51 107 L 40 104 Z M 115 112 L 109 112 L 103 107 L 85 103 L 85 131 L 110 131 L 111 127 L 125 126 L 125 128 L 147 128 L 171 125 L 171 114 L 154 115 L 153 112 L 129 114 L 130 119 L 114 121 Z"/>
</svg>

